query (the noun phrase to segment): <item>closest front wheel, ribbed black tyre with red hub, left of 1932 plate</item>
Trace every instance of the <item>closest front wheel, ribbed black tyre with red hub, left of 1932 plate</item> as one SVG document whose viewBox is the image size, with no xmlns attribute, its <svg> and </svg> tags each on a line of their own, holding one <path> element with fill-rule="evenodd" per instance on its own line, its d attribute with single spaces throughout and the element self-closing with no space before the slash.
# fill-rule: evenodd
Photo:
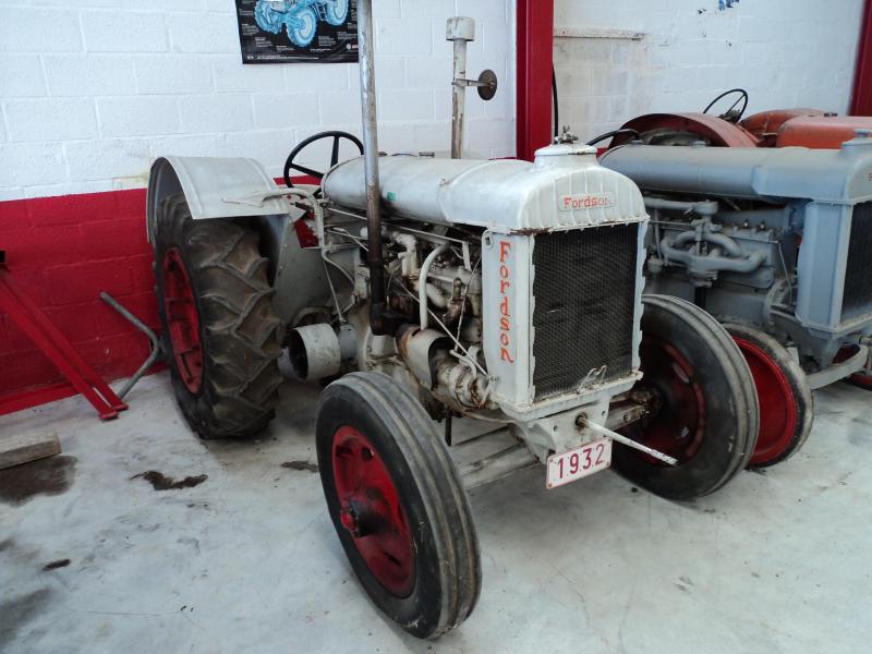
<svg viewBox="0 0 872 654">
<path fill-rule="evenodd" d="M 385 375 L 347 375 L 325 390 L 316 434 L 330 518 L 372 601 L 419 638 L 463 622 L 481 590 L 479 542 L 417 400 Z"/>
</svg>

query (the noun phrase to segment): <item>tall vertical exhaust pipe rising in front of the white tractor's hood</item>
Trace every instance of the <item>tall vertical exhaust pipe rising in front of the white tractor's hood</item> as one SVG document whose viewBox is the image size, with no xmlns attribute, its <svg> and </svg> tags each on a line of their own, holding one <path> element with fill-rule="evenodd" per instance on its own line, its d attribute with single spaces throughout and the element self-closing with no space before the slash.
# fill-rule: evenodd
<svg viewBox="0 0 872 654">
<path fill-rule="evenodd" d="M 378 113 L 373 56 L 373 0 L 358 1 L 358 49 L 366 178 L 366 222 L 370 252 L 370 318 L 373 332 L 384 334 L 385 262 L 382 252 L 382 192 L 378 181 Z"/>
</svg>

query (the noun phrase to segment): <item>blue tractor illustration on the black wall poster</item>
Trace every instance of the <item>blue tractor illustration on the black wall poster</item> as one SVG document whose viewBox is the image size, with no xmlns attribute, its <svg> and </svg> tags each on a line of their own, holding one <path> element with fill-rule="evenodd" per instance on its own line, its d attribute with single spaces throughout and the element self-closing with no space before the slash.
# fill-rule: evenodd
<svg viewBox="0 0 872 654">
<path fill-rule="evenodd" d="M 264 32 L 281 34 L 299 48 L 306 48 L 315 38 L 318 22 L 342 25 L 348 19 L 350 0 L 257 0 L 254 17 Z"/>
</svg>

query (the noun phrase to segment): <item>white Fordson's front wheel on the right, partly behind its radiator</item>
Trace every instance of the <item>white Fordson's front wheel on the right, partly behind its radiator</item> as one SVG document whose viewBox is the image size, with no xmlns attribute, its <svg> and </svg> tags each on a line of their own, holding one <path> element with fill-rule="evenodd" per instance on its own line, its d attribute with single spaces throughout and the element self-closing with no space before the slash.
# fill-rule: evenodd
<svg viewBox="0 0 872 654">
<path fill-rule="evenodd" d="M 622 433 L 678 459 L 669 467 L 615 444 L 615 469 L 671 499 L 713 493 L 748 465 L 758 436 L 753 378 L 738 346 L 707 313 L 677 298 L 645 295 L 634 392 L 651 413 Z"/>
</svg>

